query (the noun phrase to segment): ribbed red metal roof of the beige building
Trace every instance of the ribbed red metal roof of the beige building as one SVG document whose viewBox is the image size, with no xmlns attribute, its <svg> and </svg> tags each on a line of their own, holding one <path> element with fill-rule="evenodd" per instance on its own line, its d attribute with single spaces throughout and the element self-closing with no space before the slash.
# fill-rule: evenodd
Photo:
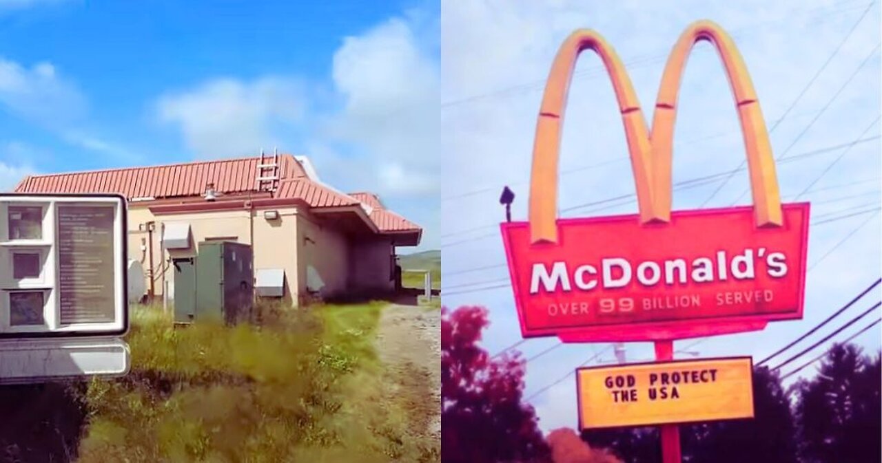
<svg viewBox="0 0 882 463">
<path fill-rule="evenodd" d="M 82 173 L 29 175 L 15 188 L 17 193 L 117 193 L 127 199 L 185 198 L 205 194 L 214 184 L 222 194 L 255 191 L 260 158 L 222 159 L 176 165 L 129 167 Z M 264 161 L 267 162 L 267 161 Z M 310 180 L 303 165 L 289 155 L 279 155 L 279 183 L 273 198 L 296 199 L 312 208 L 370 206 L 370 220 L 379 231 L 421 231 L 419 225 L 385 209 L 377 195 L 347 195 Z M 269 169 L 265 170 L 267 174 Z M 222 197 L 221 197 L 222 200 Z"/>
</svg>

